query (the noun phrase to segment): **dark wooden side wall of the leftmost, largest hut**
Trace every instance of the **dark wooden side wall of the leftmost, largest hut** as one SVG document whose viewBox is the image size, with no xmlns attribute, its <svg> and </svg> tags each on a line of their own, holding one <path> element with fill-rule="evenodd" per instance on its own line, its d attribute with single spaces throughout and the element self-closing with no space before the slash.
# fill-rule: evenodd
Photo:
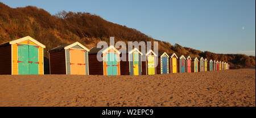
<svg viewBox="0 0 256 118">
<path fill-rule="evenodd" d="M 0 57 L 0 74 L 11 74 L 12 60 L 10 44 L 0 46 Z"/>
</svg>

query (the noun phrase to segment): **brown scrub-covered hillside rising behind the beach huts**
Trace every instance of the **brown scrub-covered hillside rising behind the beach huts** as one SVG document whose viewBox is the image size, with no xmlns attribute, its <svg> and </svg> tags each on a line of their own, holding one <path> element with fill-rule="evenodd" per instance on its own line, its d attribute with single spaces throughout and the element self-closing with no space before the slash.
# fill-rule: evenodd
<svg viewBox="0 0 256 118">
<path fill-rule="evenodd" d="M 59 12 L 51 15 L 37 7 L 27 6 L 13 9 L 0 2 L 0 44 L 24 36 L 31 36 L 46 45 L 44 56 L 47 69 L 49 49 L 61 44 L 79 41 L 88 48 L 95 47 L 98 41 L 159 41 L 152 39 L 137 29 L 108 22 L 100 16 L 85 12 Z M 159 50 L 177 55 L 189 54 L 191 57 L 204 57 L 228 62 L 232 68 L 255 66 L 255 56 L 245 54 L 216 54 L 202 52 L 179 44 L 159 41 Z M 47 70 L 46 70 L 47 71 Z"/>
</svg>

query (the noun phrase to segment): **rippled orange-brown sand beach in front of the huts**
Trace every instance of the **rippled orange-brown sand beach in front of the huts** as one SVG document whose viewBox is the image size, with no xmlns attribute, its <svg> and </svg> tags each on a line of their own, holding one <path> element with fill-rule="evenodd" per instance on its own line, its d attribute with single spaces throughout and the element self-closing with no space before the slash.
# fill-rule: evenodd
<svg viewBox="0 0 256 118">
<path fill-rule="evenodd" d="M 0 106 L 255 107 L 255 69 L 139 76 L 0 75 Z"/>
</svg>

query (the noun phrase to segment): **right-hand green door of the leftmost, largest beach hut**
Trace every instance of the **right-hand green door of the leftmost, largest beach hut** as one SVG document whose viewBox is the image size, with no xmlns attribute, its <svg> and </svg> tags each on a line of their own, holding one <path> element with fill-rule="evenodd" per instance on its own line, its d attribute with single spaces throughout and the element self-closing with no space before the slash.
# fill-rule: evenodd
<svg viewBox="0 0 256 118">
<path fill-rule="evenodd" d="M 38 74 L 38 47 L 29 45 L 29 64 L 30 74 Z"/>
</svg>

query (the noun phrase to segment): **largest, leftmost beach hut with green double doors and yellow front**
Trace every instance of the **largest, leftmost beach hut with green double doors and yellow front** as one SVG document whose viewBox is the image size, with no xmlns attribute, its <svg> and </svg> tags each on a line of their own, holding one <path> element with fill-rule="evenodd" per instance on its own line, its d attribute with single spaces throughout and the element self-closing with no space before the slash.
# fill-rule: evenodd
<svg viewBox="0 0 256 118">
<path fill-rule="evenodd" d="M 30 36 L 0 44 L 0 74 L 44 74 L 44 48 Z"/>
</svg>

